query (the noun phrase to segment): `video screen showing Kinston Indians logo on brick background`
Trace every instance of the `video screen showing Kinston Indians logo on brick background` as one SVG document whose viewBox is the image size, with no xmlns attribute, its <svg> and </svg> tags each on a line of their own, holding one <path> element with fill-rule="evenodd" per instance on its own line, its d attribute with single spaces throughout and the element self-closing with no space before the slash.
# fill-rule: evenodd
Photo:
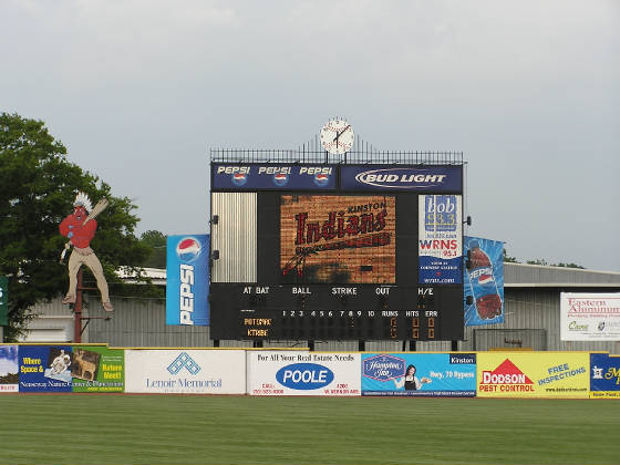
<svg viewBox="0 0 620 465">
<path fill-rule="evenodd" d="M 280 196 L 282 282 L 396 282 L 394 196 Z"/>
</svg>

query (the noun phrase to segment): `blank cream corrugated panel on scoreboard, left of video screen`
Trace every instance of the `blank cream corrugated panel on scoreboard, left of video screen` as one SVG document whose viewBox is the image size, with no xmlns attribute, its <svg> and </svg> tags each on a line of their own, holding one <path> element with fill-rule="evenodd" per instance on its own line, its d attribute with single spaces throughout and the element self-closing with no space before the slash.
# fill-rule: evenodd
<svg viewBox="0 0 620 465">
<path fill-rule="evenodd" d="M 211 194 L 211 282 L 256 282 L 256 193 Z"/>
</svg>

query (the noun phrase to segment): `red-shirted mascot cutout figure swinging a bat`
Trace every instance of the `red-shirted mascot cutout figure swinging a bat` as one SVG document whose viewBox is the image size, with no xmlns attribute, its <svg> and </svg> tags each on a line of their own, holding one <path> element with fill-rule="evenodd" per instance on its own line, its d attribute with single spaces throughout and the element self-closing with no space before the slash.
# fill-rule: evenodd
<svg viewBox="0 0 620 465">
<path fill-rule="evenodd" d="M 107 200 L 105 198 L 100 200 L 93 208 L 89 196 L 84 193 L 78 193 L 75 202 L 73 203 L 73 214 L 69 215 L 60 224 L 60 234 L 70 239 L 62 251 L 61 264 L 66 250 L 73 246 L 73 251 L 69 257 L 69 291 L 66 296 L 64 296 L 64 299 L 62 299 L 62 303 L 75 303 L 78 271 L 82 265 L 85 265 L 91 269 L 96 279 L 104 310 L 114 310 L 114 307 L 112 307 L 110 302 L 107 281 L 103 276 L 101 261 L 99 261 L 95 252 L 90 247 L 91 240 L 96 231 L 96 220 L 94 218 L 102 213 L 105 207 L 107 207 Z"/>
</svg>

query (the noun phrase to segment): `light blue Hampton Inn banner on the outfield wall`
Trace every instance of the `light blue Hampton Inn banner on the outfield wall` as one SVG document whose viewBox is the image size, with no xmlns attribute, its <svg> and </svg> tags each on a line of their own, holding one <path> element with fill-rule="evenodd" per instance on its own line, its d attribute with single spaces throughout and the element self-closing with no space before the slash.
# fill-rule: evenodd
<svg viewBox="0 0 620 465">
<path fill-rule="evenodd" d="M 364 353 L 362 395 L 476 395 L 475 353 Z"/>
</svg>

